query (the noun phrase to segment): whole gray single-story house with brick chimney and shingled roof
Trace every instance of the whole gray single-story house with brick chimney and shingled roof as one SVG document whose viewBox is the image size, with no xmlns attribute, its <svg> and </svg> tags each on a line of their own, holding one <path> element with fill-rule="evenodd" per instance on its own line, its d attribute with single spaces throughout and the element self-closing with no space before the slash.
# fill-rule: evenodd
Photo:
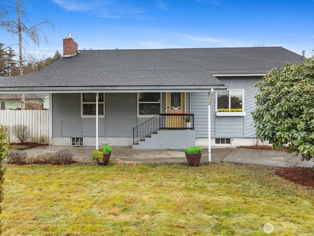
<svg viewBox="0 0 314 236">
<path fill-rule="evenodd" d="M 68 36 L 63 50 L 38 72 L 0 80 L 0 93 L 50 93 L 51 145 L 181 149 L 209 145 L 209 130 L 211 146 L 253 145 L 255 83 L 302 63 L 282 47 L 78 52 Z"/>
</svg>

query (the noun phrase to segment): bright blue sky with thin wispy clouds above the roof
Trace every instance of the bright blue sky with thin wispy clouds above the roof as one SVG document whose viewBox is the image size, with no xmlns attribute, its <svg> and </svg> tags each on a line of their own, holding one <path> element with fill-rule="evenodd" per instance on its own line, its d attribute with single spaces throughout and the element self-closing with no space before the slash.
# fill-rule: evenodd
<svg viewBox="0 0 314 236">
<path fill-rule="evenodd" d="M 16 5 L 0 0 L 0 6 Z M 29 26 L 44 19 L 49 42 L 28 51 L 62 54 L 68 33 L 83 49 L 282 46 L 314 50 L 314 0 L 23 0 Z M 18 37 L 0 29 L 0 43 Z M 30 40 L 28 40 L 30 42 Z M 16 52 L 18 52 L 16 48 Z M 313 55 L 313 54 L 312 54 Z"/>
</svg>

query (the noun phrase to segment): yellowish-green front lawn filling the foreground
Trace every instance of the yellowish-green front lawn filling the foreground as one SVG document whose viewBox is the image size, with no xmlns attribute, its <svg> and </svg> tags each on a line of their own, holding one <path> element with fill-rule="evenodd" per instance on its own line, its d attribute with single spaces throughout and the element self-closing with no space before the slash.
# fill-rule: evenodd
<svg viewBox="0 0 314 236">
<path fill-rule="evenodd" d="M 314 190 L 240 164 L 8 165 L 3 236 L 313 235 Z"/>
</svg>

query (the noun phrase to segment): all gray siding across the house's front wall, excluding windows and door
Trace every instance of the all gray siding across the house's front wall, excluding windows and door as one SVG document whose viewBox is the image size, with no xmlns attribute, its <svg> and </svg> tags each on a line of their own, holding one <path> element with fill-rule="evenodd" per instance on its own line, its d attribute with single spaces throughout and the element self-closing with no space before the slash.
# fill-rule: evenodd
<svg viewBox="0 0 314 236">
<path fill-rule="evenodd" d="M 252 138 L 255 137 L 251 112 L 255 108 L 257 77 L 219 77 L 229 89 L 244 89 L 245 117 L 217 117 L 215 96 L 210 111 L 210 137 Z M 208 137 L 208 92 L 185 93 L 185 112 L 195 115 L 195 138 Z M 149 118 L 137 117 L 136 93 L 105 93 L 105 118 L 99 118 L 99 137 L 133 136 L 133 127 Z M 82 118 L 80 93 L 52 95 L 53 137 L 95 137 L 95 118 Z M 191 111 L 189 109 L 191 108 Z M 166 93 L 161 95 L 161 112 L 166 109 Z"/>
</svg>

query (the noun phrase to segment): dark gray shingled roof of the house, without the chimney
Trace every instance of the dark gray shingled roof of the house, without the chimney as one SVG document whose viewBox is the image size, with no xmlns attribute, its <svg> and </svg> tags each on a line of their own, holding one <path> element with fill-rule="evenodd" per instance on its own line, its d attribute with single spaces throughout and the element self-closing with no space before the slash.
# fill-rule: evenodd
<svg viewBox="0 0 314 236">
<path fill-rule="evenodd" d="M 264 74 L 284 63 L 302 63 L 282 47 L 148 50 L 79 50 L 44 69 L 0 79 L 0 90 L 219 88 L 213 75 Z"/>
</svg>

